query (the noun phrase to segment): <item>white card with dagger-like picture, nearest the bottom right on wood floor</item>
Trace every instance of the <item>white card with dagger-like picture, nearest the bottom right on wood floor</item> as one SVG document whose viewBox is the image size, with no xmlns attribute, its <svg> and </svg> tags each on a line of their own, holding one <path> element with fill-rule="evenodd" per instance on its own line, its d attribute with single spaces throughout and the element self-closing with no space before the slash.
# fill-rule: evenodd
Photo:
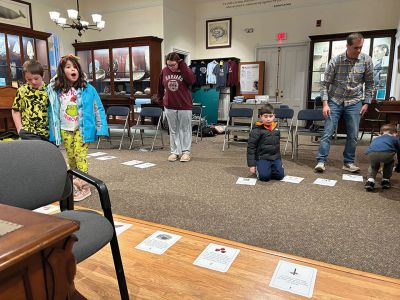
<svg viewBox="0 0 400 300">
<path fill-rule="evenodd" d="M 280 260 L 270 287 L 312 298 L 317 269 Z"/>
</svg>

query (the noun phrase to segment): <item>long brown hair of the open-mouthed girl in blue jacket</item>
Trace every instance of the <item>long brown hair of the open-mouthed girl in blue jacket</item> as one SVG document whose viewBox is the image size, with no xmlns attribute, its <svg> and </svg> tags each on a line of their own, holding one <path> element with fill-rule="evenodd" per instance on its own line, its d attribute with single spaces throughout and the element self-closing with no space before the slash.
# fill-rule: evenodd
<svg viewBox="0 0 400 300">
<path fill-rule="evenodd" d="M 57 68 L 57 78 L 55 80 L 54 89 L 56 91 L 67 92 L 71 87 L 75 89 L 85 88 L 87 82 L 85 80 L 85 74 L 82 71 L 81 65 L 79 64 L 78 57 L 69 54 L 61 57 L 60 63 Z M 67 62 L 70 61 L 73 63 L 74 67 L 78 70 L 78 80 L 71 85 L 71 83 L 67 80 L 67 76 L 65 76 L 64 68 Z"/>
</svg>

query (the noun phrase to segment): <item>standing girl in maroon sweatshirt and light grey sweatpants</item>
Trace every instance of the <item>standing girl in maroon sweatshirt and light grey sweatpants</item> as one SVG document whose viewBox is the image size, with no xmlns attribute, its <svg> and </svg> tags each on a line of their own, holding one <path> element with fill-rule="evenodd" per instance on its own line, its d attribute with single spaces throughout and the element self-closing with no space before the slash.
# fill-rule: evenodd
<svg viewBox="0 0 400 300">
<path fill-rule="evenodd" d="M 190 86 L 196 81 L 192 70 L 175 52 L 166 57 L 158 81 L 158 101 L 165 107 L 171 154 L 169 161 L 190 161 L 192 147 L 192 94 Z"/>
</svg>

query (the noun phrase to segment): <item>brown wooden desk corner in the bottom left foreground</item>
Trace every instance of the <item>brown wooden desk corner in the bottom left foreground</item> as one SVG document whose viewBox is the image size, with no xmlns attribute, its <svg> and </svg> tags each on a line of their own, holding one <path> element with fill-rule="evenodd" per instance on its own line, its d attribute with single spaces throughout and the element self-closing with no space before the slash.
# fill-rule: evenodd
<svg viewBox="0 0 400 300">
<path fill-rule="evenodd" d="M 23 225 L 0 236 L 0 299 L 76 299 L 79 224 L 2 204 L 0 220 Z"/>
</svg>

